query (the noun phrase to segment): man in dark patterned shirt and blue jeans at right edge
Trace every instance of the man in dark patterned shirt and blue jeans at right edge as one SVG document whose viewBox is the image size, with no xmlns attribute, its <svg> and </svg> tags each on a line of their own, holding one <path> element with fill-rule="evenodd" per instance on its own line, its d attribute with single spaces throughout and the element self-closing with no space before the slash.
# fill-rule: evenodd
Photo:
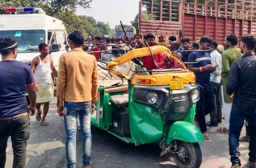
<svg viewBox="0 0 256 168">
<path fill-rule="evenodd" d="M 230 68 L 227 94 L 233 94 L 233 104 L 229 119 L 229 154 L 231 168 L 239 168 L 239 136 L 246 119 L 249 124 L 249 161 L 243 167 L 256 167 L 256 56 L 253 49 L 256 37 L 245 35 L 241 39 L 243 57 Z"/>
</svg>

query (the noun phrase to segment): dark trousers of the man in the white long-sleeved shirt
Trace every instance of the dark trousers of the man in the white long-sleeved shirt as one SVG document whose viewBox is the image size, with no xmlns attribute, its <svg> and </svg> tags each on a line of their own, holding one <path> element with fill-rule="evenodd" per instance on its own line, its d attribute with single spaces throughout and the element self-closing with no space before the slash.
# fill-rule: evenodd
<svg viewBox="0 0 256 168">
<path fill-rule="evenodd" d="M 214 110 L 210 113 L 210 122 L 211 124 L 217 124 L 218 122 L 221 122 L 222 112 L 221 112 L 221 83 L 216 83 L 211 81 L 210 85 L 214 91 L 216 104 L 214 107 Z"/>
</svg>

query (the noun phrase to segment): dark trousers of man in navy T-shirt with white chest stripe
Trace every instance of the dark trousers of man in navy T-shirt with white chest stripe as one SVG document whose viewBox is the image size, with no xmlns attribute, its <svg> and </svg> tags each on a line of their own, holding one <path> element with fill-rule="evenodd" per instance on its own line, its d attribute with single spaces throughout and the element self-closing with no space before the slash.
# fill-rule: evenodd
<svg viewBox="0 0 256 168">
<path fill-rule="evenodd" d="M 200 89 L 200 99 L 196 105 L 196 119 L 200 124 L 201 132 L 207 131 L 205 115 L 211 113 L 214 110 L 214 105 L 216 104 L 214 91 L 211 85 L 201 85 L 203 88 Z"/>
</svg>

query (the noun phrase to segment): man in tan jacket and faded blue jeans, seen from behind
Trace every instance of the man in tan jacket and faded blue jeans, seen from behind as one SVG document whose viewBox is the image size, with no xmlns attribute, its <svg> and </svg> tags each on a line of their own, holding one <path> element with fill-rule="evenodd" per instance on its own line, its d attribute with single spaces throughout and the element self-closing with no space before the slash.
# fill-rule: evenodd
<svg viewBox="0 0 256 168">
<path fill-rule="evenodd" d="M 83 168 L 89 168 L 92 165 L 91 114 L 97 100 L 97 63 L 93 55 L 82 50 L 84 37 L 81 32 L 74 31 L 68 39 L 72 50 L 62 54 L 59 59 L 57 111 L 59 116 L 64 116 L 65 121 L 67 167 L 76 167 L 76 121 L 79 115 Z"/>
</svg>

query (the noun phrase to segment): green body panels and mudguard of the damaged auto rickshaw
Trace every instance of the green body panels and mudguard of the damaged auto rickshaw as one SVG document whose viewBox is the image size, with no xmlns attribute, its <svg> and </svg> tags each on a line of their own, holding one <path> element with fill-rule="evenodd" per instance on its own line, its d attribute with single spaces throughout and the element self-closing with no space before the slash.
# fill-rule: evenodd
<svg viewBox="0 0 256 168">
<path fill-rule="evenodd" d="M 189 88 L 189 84 L 184 85 Z M 99 87 L 99 99 L 96 102 L 96 111 L 92 115 L 92 124 L 103 130 L 108 131 L 126 143 L 143 145 L 148 143 L 158 143 L 166 135 L 166 145 L 173 140 L 182 140 L 189 143 L 200 142 L 204 140 L 201 132 L 193 125 L 195 116 L 195 103 L 188 106 L 187 113 L 183 115 L 171 114 L 172 119 L 166 117 L 161 106 L 150 105 L 143 102 L 141 97 L 136 99 L 136 92 L 159 91 L 163 95 L 169 94 L 169 86 L 136 86 L 129 84 L 129 129 L 130 134 L 120 134 L 111 129 L 113 127 L 113 110 L 123 107 L 117 107 L 110 101 L 114 95 L 123 95 L 126 92 L 105 93 L 104 87 Z M 172 93 L 172 91 L 170 91 Z M 139 93 L 142 95 L 143 93 Z M 137 93 L 138 95 L 138 93 Z M 174 95 L 174 94 L 173 94 Z M 160 104 L 163 105 L 163 104 Z M 176 117 L 176 119 L 175 119 Z M 182 120 L 181 120 L 182 119 Z"/>
</svg>

